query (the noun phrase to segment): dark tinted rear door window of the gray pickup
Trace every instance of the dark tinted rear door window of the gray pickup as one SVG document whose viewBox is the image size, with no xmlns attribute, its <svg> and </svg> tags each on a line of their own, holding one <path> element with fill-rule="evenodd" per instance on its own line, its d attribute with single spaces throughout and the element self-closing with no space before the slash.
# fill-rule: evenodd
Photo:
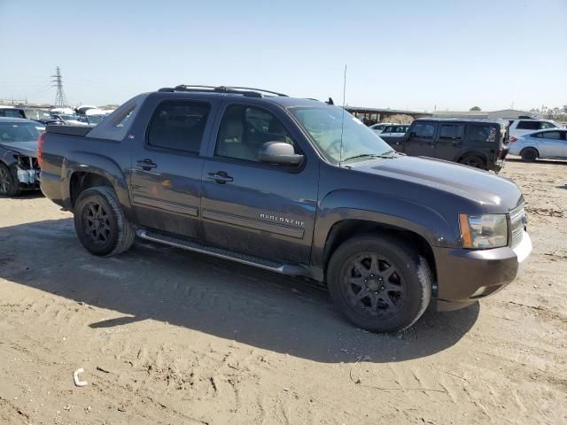
<svg viewBox="0 0 567 425">
<path fill-rule="evenodd" d="M 166 100 L 151 117 L 148 144 L 158 148 L 198 153 L 205 133 L 210 104 Z"/>
</svg>

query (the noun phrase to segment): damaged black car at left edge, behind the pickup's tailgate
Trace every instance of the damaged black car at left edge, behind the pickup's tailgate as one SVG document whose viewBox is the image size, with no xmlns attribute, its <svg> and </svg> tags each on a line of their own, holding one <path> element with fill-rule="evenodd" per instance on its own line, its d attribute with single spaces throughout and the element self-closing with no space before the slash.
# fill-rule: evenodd
<svg viewBox="0 0 567 425">
<path fill-rule="evenodd" d="M 44 129 L 32 120 L 0 117 L 0 195 L 39 189 L 36 148 Z"/>
</svg>

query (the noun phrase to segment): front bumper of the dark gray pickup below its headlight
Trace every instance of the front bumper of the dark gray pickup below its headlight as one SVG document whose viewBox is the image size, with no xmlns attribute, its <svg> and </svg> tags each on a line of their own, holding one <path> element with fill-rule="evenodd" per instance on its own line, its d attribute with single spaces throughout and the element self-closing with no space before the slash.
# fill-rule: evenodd
<svg viewBox="0 0 567 425">
<path fill-rule="evenodd" d="M 433 247 L 437 266 L 439 311 L 457 310 L 493 295 L 512 282 L 532 252 L 524 230 L 515 247 L 465 250 Z"/>
</svg>

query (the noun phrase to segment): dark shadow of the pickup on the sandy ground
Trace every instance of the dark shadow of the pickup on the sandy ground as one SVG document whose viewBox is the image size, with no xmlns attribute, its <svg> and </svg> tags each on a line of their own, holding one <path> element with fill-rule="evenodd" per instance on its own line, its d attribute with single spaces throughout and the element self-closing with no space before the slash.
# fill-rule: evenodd
<svg viewBox="0 0 567 425">
<path fill-rule="evenodd" d="M 298 278 L 166 246 L 137 242 L 119 257 L 82 249 L 73 220 L 0 228 L 0 277 L 122 314 L 90 328 L 152 319 L 320 362 L 416 359 L 456 344 L 479 306 L 427 312 L 397 336 L 342 319 L 326 290 Z"/>
</svg>

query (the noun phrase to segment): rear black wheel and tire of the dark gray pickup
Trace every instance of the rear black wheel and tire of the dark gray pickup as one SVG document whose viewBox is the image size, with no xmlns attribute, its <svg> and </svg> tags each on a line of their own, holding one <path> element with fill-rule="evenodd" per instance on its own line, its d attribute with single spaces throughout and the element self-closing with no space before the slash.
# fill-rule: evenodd
<svg viewBox="0 0 567 425">
<path fill-rule="evenodd" d="M 111 257 L 128 251 L 136 228 L 124 216 L 116 193 L 107 186 L 86 189 L 74 205 L 74 229 L 87 251 Z"/>
</svg>

